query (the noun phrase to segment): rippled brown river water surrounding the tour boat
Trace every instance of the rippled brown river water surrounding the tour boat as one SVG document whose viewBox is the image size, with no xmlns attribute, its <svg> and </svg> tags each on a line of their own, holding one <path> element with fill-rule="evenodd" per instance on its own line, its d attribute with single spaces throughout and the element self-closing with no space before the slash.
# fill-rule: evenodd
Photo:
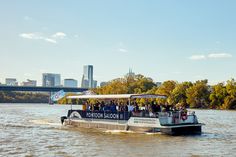
<svg viewBox="0 0 236 157">
<path fill-rule="evenodd" d="M 61 126 L 70 106 L 0 104 L 0 156 L 236 156 L 236 112 L 196 110 L 202 135 L 168 136 Z"/>
</svg>

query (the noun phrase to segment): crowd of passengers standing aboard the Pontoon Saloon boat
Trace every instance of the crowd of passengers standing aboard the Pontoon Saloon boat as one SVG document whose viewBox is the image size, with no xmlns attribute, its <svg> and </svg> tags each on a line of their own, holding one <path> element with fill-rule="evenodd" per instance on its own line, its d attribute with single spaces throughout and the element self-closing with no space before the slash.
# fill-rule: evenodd
<svg viewBox="0 0 236 157">
<path fill-rule="evenodd" d="M 85 103 L 87 111 L 107 111 L 107 112 L 148 112 L 148 113 L 158 113 L 158 112 L 169 112 L 169 111 L 179 111 L 182 108 L 177 109 L 171 107 L 168 104 L 157 104 L 152 101 L 151 103 L 146 104 L 143 107 L 139 107 L 137 102 L 116 102 L 116 101 L 101 101 L 96 102 L 95 104 Z M 141 105 L 140 105 L 141 106 Z"/>
</svg>

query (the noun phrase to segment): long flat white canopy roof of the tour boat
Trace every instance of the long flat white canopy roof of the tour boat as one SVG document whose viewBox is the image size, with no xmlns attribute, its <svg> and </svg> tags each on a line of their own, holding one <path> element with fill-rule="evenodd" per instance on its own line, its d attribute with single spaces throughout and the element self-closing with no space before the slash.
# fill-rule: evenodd
<svg viewBox="0 0 236 157">
<path fill-rule="evenodd" d="M 107 94 L 107 95 L 75 95 L 67 99 L 134 99 L 134 98 L 166 98 L 165 95 L 156 94 Z"/>
</svg>

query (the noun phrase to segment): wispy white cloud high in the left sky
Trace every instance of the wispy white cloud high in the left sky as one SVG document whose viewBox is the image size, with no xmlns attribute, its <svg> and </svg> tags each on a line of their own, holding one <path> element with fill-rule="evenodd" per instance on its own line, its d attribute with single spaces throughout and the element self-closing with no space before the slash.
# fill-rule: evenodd
<svg viewBox="0 0 236 157">
<path fill-rule="evenodd" d="M 21 33 L 19 34 L 19 36 L 24 39 L 43 40 L 48 43 L 56 44 L 57 40 L 64 39 L 66 37 L 66 34 L 63 32 L 57 32 L 51 36 L 46 36 L 39 32 L 33 32 L 33 33 Z"/>
</svg>

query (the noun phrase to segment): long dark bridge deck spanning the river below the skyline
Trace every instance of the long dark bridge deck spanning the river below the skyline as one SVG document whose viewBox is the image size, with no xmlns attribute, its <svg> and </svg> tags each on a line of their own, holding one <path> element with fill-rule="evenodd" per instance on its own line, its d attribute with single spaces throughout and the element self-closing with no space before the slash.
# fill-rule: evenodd
<svg viewBox="0 0 236 157">
<path fill-rule="evenodd" d="M 0 91 L 31 91 L 31 92 L 84 92 L 88 88 L 73 88 L 73 87 L 41 87 L 41 86 L 1 86 Z"/>
</svg>

